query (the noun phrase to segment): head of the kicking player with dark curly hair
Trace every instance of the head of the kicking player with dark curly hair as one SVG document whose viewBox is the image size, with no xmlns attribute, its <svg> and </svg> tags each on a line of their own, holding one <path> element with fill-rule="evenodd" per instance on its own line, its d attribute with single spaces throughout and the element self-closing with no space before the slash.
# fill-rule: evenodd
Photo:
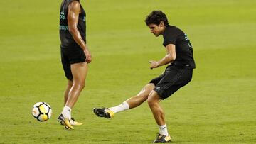
<svg viewBox="0 0 256 144">
<path fill-rule="evenodd" d="M 151 33 L 156 36 L 161 35 L 164 32 L 168 23 L 166 14 L 162 11 L 152 11 L 145 19 L 146 26 L 149 26 Z"/>
</svg>

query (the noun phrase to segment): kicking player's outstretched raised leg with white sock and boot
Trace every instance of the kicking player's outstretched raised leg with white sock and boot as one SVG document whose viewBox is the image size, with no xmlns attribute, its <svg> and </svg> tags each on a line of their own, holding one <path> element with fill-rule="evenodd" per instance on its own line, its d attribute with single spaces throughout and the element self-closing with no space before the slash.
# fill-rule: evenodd
<svg viewBox="0 0 256 144">
<path fill-rule="evenodd" d="M 118 106 L 113 106 L 108 109 L 105 108 L 94 108 L 93 111 L 97 116 L 112 118 L 114 113 L 118 113 L 120 111 L 125 111 L 127 109 L 133 109 L 139 105 L 141 105 L 149 96 L 149 93 L 154 89 L 154 84 L 149 83 L 137 94 L 136 96 L 132 96 L 131 98 L 124 101 L 122 104 Z"/>
</svg>

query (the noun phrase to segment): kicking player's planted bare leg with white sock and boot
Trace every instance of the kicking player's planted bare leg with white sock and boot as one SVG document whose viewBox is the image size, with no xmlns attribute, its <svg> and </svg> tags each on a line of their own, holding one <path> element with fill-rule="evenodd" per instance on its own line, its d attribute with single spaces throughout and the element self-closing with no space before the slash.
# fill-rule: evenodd
<svg viewBox="0 0 256 144">
<path fill-rule="evenodd" d="M 153 116 L 156 120 L 156 123 L 159 126 L 159 135 L 156 137 L 156 140 L 154 140 L 154 143 L 171 141 L 171 136 L 167 131 L 164 110 L 161 108 L 159 104 L 161 101 L 161 98 L 159 97 L 157 92 L 153 90 L 149 94 L 147 101 L 151 109 L 151 112 L 153 113 Z"/>
</svg>

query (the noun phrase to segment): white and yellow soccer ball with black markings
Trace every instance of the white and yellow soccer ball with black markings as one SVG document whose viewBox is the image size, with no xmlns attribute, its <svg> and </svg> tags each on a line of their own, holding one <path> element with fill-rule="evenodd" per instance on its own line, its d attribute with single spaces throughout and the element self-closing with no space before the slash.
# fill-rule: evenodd
<svg viewBox="0 0 256 144">
<path fill-rule="evenodd" d="M 37 102 L 33 105 L 32 115 L 38 121 L 47 121 L 52 114 L 50 105 L 46 102 Z"/>
</svg>

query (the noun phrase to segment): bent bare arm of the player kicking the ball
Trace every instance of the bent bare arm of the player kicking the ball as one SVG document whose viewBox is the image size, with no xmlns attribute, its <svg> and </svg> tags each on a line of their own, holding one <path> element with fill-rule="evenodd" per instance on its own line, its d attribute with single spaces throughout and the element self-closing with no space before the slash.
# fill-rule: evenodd
<svg viewBox="0 0 256 144">
<path fill-rule="evenodd" d="M 149 63 L 151 64 L 150 68 L 154 69 L 156 67 L 166 65 L 170 62 L 173 62 L 175 59 L 176 59 L 175 45 L 173 44 L 166 45 L 166 55 L 159 61 L 154 61 L 154 60 L 149 61 Z"/>
</svg>

